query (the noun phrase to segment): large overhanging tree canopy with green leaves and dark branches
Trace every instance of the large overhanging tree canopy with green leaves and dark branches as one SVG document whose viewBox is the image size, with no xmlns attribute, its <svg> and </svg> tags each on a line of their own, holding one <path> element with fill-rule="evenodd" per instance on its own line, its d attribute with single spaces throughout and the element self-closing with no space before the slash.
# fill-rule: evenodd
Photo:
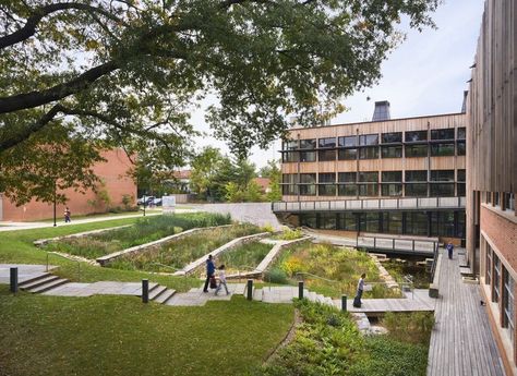
<svg viewBox="0 0 517 376">
<path fill-rule="evenodd" d="M 181 160 L 207 94 L 209 124 L 241 155 L 289 114 L 321 122 L 380 77 L 400 19 L 432 25 L 437 2 L 1 0 L 0 192 L 45 199 L 44 162 L 60 175 L 43 178 L 87 186 L 103 147 Z"/>
</svg>

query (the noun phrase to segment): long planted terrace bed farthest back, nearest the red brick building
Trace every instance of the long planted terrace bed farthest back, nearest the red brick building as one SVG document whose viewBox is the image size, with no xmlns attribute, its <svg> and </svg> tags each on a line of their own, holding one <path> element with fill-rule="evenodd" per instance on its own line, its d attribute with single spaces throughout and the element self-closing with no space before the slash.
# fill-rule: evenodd
<svg viewBox="0 0 517 376">
<path fill-rule="evenodd" d="M 207 213 L 155 216 L 142 218 L 130 227 L 50 242 L 44 248 L 86 258 L 97 258 L 184 230 L 223 226 L 230 222 L 230 216 Z"/>
</svg>

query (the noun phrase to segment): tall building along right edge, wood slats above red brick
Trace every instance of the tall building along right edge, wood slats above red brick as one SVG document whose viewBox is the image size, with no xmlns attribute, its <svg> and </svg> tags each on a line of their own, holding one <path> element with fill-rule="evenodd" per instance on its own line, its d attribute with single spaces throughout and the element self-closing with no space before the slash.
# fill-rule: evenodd
<svg viewBox="0 0 517 376">
<path fill-rule="evenodd" d="M 516 11 L 485 3 L 467 110 L 467 250 L 507 375 L 517 375 Z"/>
</svg>

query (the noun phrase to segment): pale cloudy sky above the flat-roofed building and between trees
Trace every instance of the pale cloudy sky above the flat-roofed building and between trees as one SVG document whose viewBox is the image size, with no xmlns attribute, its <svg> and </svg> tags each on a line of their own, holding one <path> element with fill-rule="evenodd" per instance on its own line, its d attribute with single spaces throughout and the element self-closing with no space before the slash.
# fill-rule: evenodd
<svg viewBox="0 0 517 376">
<path fill-rule="evenodd" d="M 401 25 L 407 38 L 384 61 L 383 77 L 377 85 L 345 98 L 347 111 L 330 124 L 370 121 L 377 100 L 389 101 L 392 119 L 459 112 L 470 80 L 469 66 L 474 59 L 483 7 L 484 0 L 445 0 L 433 14 L 437 29 L 419 33 Z M 213 145 L 229 154 L 225 142 L 209 135 L 204 121 L 203 106 L 213 100 L 207 98 L 191 113 L 195 128 L 205 132 L 195 140 L 196 149 Z M 261 168 L 267 160 L 279 159 L 279 141 L 267 150 L 253 147 L 250 160 Z"/>
</svg>

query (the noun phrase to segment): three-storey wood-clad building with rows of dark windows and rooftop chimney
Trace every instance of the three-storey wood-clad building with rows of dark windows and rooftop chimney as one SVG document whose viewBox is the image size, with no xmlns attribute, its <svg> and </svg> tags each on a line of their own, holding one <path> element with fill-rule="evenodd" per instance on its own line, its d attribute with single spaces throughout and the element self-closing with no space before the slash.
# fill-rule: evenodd
<svg viewBox="0 0 517 376">
<path fill-rule="evenodd" d="M 339 232 L 465 238 L 466 116 L 294 128 L 282 144 L 282 202 L 294 226 Z"/>
</svg>

